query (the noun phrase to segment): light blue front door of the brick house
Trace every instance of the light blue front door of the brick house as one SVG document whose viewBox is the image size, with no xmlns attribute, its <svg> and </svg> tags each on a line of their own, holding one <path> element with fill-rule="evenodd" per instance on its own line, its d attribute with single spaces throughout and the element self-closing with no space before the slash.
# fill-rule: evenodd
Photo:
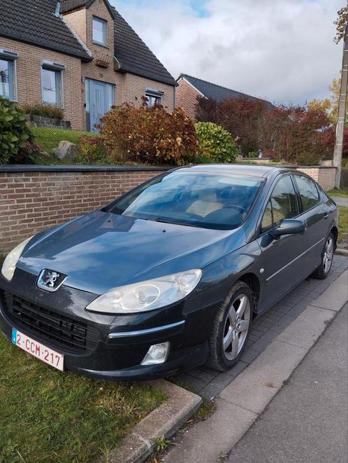
<svg viewBox="0 0 348 463">
<path fill-rule="evenodd" d="M 87 118 L 89 130 L 98 132 L 96 125 L 101 117 L 113 106 L 114 86 L 105 82 L 87 81 Z"/>
</svg>

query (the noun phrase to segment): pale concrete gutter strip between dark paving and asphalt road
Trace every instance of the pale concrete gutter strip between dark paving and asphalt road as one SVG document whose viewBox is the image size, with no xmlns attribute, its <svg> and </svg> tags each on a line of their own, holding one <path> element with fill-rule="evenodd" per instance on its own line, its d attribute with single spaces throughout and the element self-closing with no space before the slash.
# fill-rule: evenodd
<svg viewBox="0 0 348 463">
<path fill-rule="evenodd" d="M 178 436 L 175 447 L 164 457 L 164 462 L 217 463 L 225 459 L 347 303 L 347 282 L 348 272 L 345 270 L 324 293 L 312 299 L 310 305 L 292 319 L 219 394 L 215 402 L 216 412 L 208 420 L 198 422 L 194 428 Z M 300 402 L 301 396 L 296 401 Z M 335 401 L 334 392 L 331 401 Z M 287 408 L 282 410 L 282 415 L 287 420 Z M 311 439 L 311 426 L 315 423 L 314 420 L 304 431 L 304 438 L 308 441 Z M 283 438 L 286 440 L 287 436 Z M 249 461 L 264 461 L 257 455 L 258 445 L 257 440 L 254 442 L 254 459 Z M 332 445 L 335 445 L 335 441 Z M 326 461 L 331 463 L 335 460 Z"/>
</svg>

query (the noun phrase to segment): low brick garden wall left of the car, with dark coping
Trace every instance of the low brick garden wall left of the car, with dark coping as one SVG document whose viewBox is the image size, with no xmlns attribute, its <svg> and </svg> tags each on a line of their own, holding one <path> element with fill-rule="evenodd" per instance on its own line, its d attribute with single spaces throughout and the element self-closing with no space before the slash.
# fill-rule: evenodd
<svg viewBox="0 0 348 463">
<path fill-rule="evenodd" d="M 40 230 L 100 209 L 161 170 L 0 167 L 0 254 Z"/>
</svg>

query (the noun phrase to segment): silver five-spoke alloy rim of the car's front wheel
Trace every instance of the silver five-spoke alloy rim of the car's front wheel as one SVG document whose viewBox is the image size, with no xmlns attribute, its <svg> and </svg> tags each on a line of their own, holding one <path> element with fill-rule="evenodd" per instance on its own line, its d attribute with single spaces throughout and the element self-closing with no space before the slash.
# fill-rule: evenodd
<svg viewBox="0 0 348 463">
<path fill-rule="evenodd" d="M 231 304 L 224 326 L 222 343 L 228 360 L 234 360 L 242 350 L 249 329 L 250 312 L 249 298 L 245 294 L 238 295 Z"/>
</svg>

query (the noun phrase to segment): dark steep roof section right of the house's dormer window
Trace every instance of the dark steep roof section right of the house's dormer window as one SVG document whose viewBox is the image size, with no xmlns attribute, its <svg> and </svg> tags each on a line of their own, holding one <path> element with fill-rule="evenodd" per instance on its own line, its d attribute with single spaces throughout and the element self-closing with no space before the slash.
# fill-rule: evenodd
<svg viewBox="0 0 348 463">
<path fill-rule="evenodd" d="M 176 85 L 175 79 L 150 48 L 140 39 L 118 11 L 113 8 L 115 17 L 115 57 L 120 71 L 130 72 L 154 81 Z"/>
</svg>

